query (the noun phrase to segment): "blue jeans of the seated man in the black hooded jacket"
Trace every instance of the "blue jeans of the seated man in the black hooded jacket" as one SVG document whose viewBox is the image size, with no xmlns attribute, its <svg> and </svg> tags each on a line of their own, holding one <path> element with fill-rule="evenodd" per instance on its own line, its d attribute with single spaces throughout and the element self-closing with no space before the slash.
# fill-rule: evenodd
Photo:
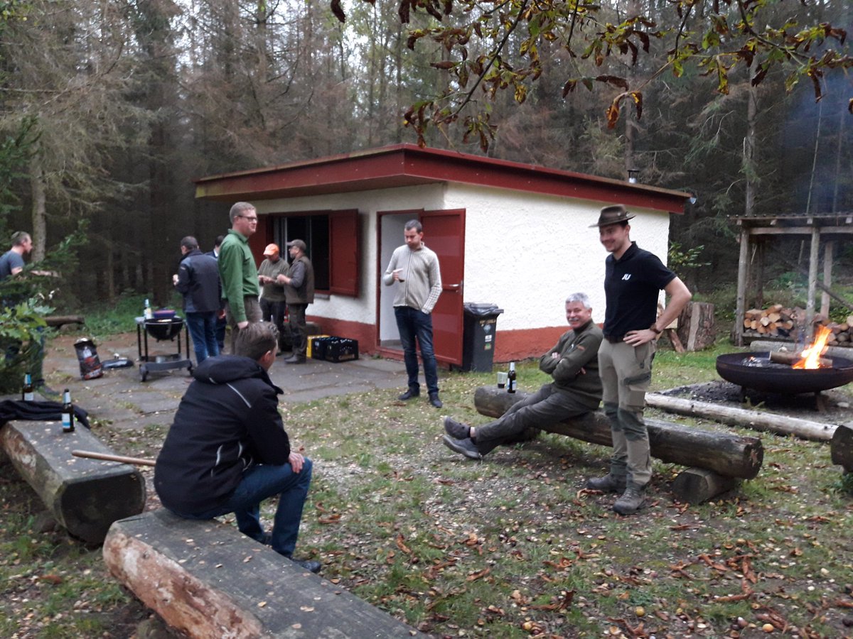
<svg viewBox="0 0 853 639">
<path fill-rule="evenodd" d="M 270 541 L 272 550 L 286 557 L 293 556 L 296 539 L 299 537 L 299 521 L 302 507 L 308 496 L 311 483 L 311 460 L 305 458 L 302 470 L 293 472 L 289 463 L 276 466 L 261 463 L 243 473 L 240 484 L 227 502 L 218 508 L 201 513 L 175 514 L 185 519 L 212 519 L 219 515 L 234 513 L 240 532 L 264 544 L 267 541 L 260 521 L 260 503 L 278 495 L 278 508 L 273 520 Z"/>
</svg>

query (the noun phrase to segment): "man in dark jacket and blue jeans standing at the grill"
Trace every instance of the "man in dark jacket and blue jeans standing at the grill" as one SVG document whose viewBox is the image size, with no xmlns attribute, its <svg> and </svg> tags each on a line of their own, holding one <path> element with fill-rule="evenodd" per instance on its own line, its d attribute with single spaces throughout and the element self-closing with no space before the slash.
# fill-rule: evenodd
<svg viewBox="0 0 853 639">
<path fill-rule="evenodd" d="M 219 267 L 215 257 L 199 250 L 199 243 L 191 235 L 181 240 L 181 253 L 181 266 L 171 279 L 183 295 L 183 312 L 193 337 L 195 361 L 200 364 L 219 354 L 216 337 L 221 292 Z"/>
</svg>

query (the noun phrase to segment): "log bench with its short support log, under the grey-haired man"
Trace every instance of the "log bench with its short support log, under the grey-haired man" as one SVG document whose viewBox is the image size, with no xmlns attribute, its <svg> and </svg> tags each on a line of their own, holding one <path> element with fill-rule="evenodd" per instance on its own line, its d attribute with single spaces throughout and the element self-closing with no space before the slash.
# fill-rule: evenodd
<svg viewBox="0 0 853 639">
<path fill-rule="evenodd" d="M 481 386 L 474 392 L 474 407 L 481 415 L 501 417 L 509 406 L 526 396 L 522 391 L 509 394 L 503 389 Z M 672 482 L 672 491 L 682 501 L 700 504 L 731 490 L 740 480 L 754 478 L 761 469 L 764 449 L 757 437 L 717 433 L 657 419 L 646 419 L 646 425 L 652 456 L 688 467 Z M 601 411 L 543 430 L 601 446 L 613 445 L 610 422 Z"/>
</svg>

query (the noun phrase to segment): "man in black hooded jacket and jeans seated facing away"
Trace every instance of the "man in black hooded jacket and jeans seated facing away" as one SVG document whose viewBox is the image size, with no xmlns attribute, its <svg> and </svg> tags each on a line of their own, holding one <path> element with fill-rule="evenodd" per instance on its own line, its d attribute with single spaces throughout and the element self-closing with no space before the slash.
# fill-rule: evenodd
<svg viewBox="0 0 853 639">
<path fill-rule="evenodd" d="M 276 360 L 275 325 L 240 331 L 235 355 L 205 360 L 193 375 L 154 468 L 165 508 L 187 519 L 233 512 L 240 532 L 293 559 L 311 481 L 311 462 L 290 448 L 267 374 Z M 272 533 L 259 504 L 279 495 Z M 311 572 L 317 561 L 296 561 Z"/>
</svg>

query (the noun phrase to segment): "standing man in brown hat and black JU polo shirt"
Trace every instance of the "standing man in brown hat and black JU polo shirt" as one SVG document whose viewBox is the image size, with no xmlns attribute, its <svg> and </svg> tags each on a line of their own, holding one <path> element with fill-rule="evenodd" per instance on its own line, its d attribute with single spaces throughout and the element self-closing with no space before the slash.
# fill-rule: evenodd
<svg viewBox="0 0 853 639">
<path fill-rule="evenodd" d="M 601 209 L 601 244 L 610 253 L 605 262 L 606 311 L 604 341 L 598 351 L 604 412 L 610 421 L 613 453 L 610 472 L 592 478 L 587 487 L 621 492 L 613 504 L 620 515 L 633 515 L 645 504 L 652 478 L 648 431 L 642 413 L 652 381 L 655 340 L 690 301 L 691 293 L 676 273 L 657 256 L 630 239 L 634 217 L 622 204 Z M 659 291 L 670 296 L 658 317 Z"/>
</svg>

